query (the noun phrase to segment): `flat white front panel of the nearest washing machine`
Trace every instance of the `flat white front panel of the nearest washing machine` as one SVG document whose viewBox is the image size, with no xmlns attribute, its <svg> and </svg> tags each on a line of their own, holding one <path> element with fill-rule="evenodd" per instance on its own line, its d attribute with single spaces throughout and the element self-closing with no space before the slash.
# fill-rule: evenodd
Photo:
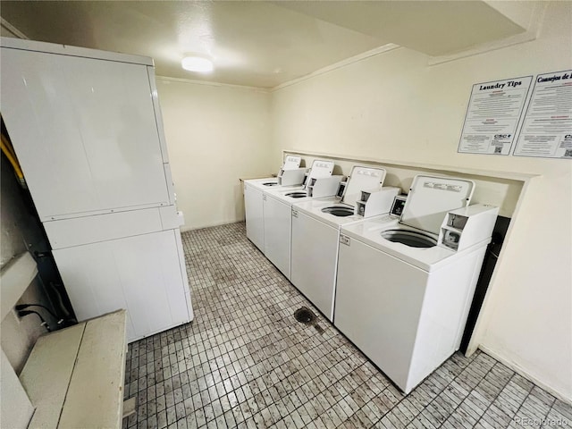
<svg viewBox="0 0 572 429">
<path fill-rule="evenodd" d="M 333 322 L 407 391 L 427 273 L 354 239 L 340 244 Z"/>
</svg>

